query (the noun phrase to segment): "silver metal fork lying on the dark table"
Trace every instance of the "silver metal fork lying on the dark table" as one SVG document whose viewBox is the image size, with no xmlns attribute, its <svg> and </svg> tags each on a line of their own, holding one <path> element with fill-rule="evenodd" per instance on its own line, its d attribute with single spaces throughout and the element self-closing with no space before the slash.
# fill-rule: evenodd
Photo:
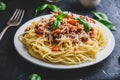
<svg viewBox="0 0 120 80">
<path fill-rule="evenodd" d="M 3 29 L 3 31 L 0 33 L 0 40 L 2 39 L 3 35 L 7 31 L 8 28 L 12 26 L 18 26 L 24 16 L 25 10 L 22 9 L 16 9 L 15 12 L 13 13 L 12 17 L 8 20 L 7 26 Z"/>
</svg>

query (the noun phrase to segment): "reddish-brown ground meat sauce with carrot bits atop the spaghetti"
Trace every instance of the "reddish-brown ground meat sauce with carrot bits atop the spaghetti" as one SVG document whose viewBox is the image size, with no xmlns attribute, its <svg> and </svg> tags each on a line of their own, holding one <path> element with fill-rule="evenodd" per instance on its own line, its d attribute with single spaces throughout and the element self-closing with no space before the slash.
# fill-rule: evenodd
<svg viewBox="0 0 120 80">
<path fill-rule="evenodd" d="M 58 13 L 54 13 L 58 14 Z M 86 19 L 86 21 L 91 21 L 95 23 L 93 19 L 90 19 L 85 16 L 80 16 L 80 18 Z M 84 25 L 80 24 L 77 20 L 74 19 L 73 14 L 68 14 L 66 18 L 63 19 L 61 25 L 55 30 L 52 29 L 52 25 L 54 20 L 56 19 L 55 16 L 52 16 L 49 21 L 47 22 L 44 18 L 36 25 L 35 33 L 37 37 L 46 36 L 50 42 L 54 44 L 58 44 L 60 42 L 61 35 L 66 35 L 70 38 L 73 44 L 77 44 L 80 41 L 86 42 L 89 38 L 94 38 L 94 28 L 91 28 L 89 32 L 84 30 Z M 29 30 L 29 29 L 28 29 Z M 78 36 L 76 38 L 76 36 Z M 52 48 L 52 50 L 59 50 L 58 47 Z"/>
</svg>

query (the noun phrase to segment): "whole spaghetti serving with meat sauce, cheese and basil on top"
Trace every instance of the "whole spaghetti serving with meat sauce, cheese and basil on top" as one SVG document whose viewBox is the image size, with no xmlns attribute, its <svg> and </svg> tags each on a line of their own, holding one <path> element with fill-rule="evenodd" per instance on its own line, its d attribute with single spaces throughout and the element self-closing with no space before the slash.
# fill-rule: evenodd
<svg viewBox="0 0 120 80">
<path fill-rule="evenodd" d="M 61 17 L 61 16 L 62 17 Z M 28 53 L 53 64 L 75 65 L 95 61 L 107 45 L 105 31 L 87 16 L 54 12 L 32 22 L 19 36 Z"/>
</svg>

